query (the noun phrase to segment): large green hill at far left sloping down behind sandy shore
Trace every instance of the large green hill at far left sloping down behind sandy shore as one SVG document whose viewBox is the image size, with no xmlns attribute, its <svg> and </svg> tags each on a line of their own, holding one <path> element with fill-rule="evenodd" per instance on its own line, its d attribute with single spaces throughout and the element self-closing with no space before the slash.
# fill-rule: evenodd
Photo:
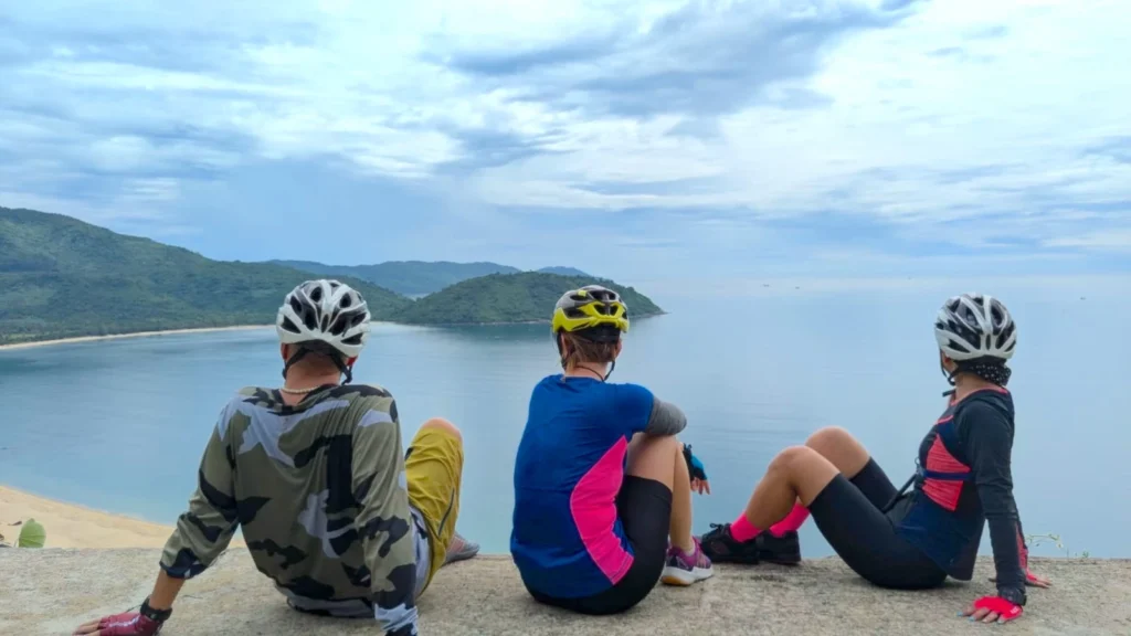
<svg viewBox="0 0 1131 636">
<path fill-rule="evenodd" d="M 270 324 L 310 277 L 226 263 L 58 214 L 0 207 L 0 343 Z M 388 319 L 412 301 L 343 278 Z"/>
</svg>

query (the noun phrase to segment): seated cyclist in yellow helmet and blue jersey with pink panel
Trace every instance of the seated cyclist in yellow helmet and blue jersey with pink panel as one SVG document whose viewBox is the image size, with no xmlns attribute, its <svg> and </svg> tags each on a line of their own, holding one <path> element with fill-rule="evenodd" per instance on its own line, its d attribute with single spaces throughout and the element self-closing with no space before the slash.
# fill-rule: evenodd
<svg viewBox="0 0 1131 636">
<path fill-rule="evenodd" d="M 709 492 L 707 475 L 675 438 L 687 418 L 641 386 L 605 381 L 627 311 L 598 285 L 558 301 L 564 373 L 534 387 L 515 462 L 510 550 L 523 583 L 543 603 L 589 614 L 625 611 L 661 579 L 711 576 L 691 534 L 691 491 Z"/>
</svg>

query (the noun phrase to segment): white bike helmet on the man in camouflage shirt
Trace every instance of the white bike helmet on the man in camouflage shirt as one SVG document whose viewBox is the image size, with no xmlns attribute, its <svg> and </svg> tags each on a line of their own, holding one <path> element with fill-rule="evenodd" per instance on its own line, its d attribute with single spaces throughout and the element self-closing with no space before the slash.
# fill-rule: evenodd
<svg viewBox="0 0 1131 636">
<path fill-rule="evenodd" d="M 287 360 L 286 369 L 309 351 L 337 352 L 340 355 L 330 356 L 348 383 L 345 360 L 356 358 L 365 347 L 370 319 L 365 299 L 349 285 L 325 278 L 300 284 L 286 295 L 275 317 L 279 342 L 303 345 Z"/>
</svg>

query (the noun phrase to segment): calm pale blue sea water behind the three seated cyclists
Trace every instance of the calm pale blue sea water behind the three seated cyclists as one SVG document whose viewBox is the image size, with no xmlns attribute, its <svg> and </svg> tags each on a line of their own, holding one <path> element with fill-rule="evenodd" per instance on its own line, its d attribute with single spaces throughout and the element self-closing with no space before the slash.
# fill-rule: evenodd
<svg viewBox="0 0 1131 636">
<path fill-rule="evenodd" d="M 1131 557 L 1131 287 L 1081 285 L 995 287 L 1020 325 L 1016 496 L 1028 533 Z M 732 521 L 774 454 L 822 426 L 855 432 L 897 485 L 913 471 L 943 406 L 931 323 L 952 285 L 645 289 L 672 313 L 633 324 L 613 379 L 688 413 L 683 438 L 714 488 L 696 497 L 697 531 Z M 0 483 L 172 523 L 225 401 L 277 386 L 280 368 L 269 329 L 0 352 Z M 394 393 L 406 439 L 432 415 L 460 426 L 458 527 L 506 552 L 529 390 L 555 370 L 542 325 L 380 325 L 356 376 Z M 812 524 L 802 532 L 806 556 L 830 553 Z"/>
</svg>

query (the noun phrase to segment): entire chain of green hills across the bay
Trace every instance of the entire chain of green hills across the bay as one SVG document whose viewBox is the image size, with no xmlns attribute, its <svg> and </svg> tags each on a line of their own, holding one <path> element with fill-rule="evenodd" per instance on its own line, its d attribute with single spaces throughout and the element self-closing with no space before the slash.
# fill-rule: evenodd
<svg viewBox="0 0 1131 636">
<path fill-rule="evenodd" d="M 375 320 L 413 325 L 544 321 L 562 293 L 590 283 L 623 293 L 634 318 L 663 313 L 632 287 L 579 272 L 493 263 L 219 261 L 60 214 L 0 207 L 0 344 L 267 325 L 284 294 L 312 274 L 355 286 Z M 414 300 L 373 278 L 433 291 Z"/>
</svg>

